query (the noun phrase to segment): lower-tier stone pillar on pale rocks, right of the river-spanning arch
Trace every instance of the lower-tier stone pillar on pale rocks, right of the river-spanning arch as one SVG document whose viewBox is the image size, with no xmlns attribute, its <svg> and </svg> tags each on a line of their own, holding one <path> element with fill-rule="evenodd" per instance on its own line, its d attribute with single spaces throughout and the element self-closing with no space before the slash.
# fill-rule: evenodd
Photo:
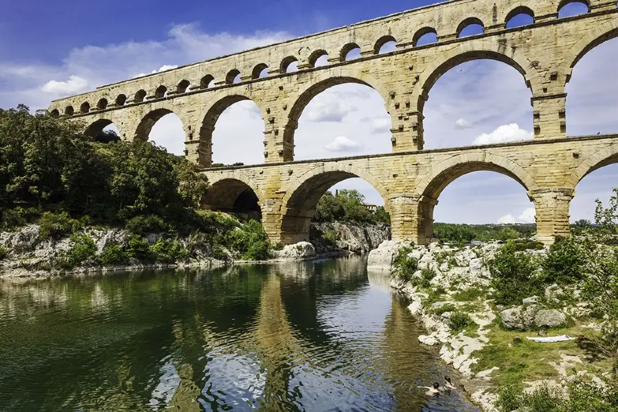
<svg viewBox="0 0 618 412">
<path fill-rule="evenodd" d="M 398 194 L 391 196 L 389 201 L 393 240 L 411 240 L 415 244 L 431 242 L 437 200 L 418 194 Z"/>
</svg>

